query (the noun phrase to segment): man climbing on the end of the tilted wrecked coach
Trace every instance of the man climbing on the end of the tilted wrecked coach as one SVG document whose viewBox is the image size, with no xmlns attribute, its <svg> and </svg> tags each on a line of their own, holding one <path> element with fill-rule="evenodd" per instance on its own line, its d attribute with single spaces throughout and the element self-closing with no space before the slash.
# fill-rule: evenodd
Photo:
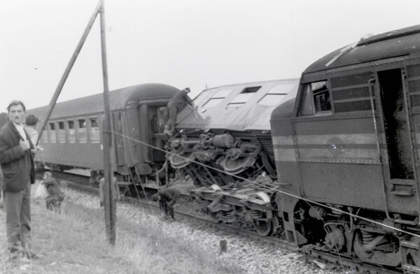
<svg viewBox="0 0 420 274">
<path fill-rule="evenodd" d="M 168 136 L 172 136 L 172 134 L 174 134 L 176 114 L 183 110 L 183 108 L 188 105 L 195 110 L 194 102 L 190 96 L 188 96 L 189 92 L 190 88 L 186 87 L 185 89 L 176 92 L 174 96 L 172 96 L 172 98 L 169 100 L 167 105 L 169 119 L 165 124 L 165 130 L 163 131 L 164 134 L 167 134 Z"/>
</svg>

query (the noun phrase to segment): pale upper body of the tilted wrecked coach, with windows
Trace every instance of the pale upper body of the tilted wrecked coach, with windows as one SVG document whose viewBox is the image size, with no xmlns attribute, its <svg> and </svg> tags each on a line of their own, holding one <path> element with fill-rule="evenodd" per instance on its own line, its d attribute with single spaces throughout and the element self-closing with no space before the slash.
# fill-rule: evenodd
<svg viewBox="0 0 420 274">
<path fill-rule="evenodd" d="M 272 110 L 288 99 L 286 94 L 297 90 L 298 82 L 299 79 L 271 80 L 205 89 L 194 99 L 197 113 L 185 108 L 178 115 L 176 127 L 269 130 Z M 211 100 L 218 102 L 216 106 L 211 106 Z"/>
</svg>

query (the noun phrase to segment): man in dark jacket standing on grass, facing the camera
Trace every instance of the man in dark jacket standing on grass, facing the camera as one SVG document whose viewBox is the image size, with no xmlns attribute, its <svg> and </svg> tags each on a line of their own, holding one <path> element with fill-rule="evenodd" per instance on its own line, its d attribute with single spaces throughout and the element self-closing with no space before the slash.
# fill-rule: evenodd
<svg viewBox="0 0 420 274">
<path fill-rule="evenodd" d="M 11 258 L 30 252 L 31 184 L 35 182 L 34 145 L 26 133 L 25 105 L 12 101 L 8 108 L 9 122 L 0 130 L 0 165 L 3 171 L 3 201 L 6 210 L 6 236 Z"/>
</svg>

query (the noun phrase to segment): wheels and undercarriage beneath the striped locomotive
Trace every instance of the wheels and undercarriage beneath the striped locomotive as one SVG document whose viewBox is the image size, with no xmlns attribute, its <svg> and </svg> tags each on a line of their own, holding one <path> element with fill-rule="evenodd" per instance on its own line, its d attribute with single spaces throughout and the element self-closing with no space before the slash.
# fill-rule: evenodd
<svg viewBox="0 0 420 274">
<path fill-rule="evenodd" d="M 295 206 L 297 233 L 316 250 L 405 273 L 420 273 L 420 231 L 412 216 L 337 205 L 327 208 L 300 201 Z M 373 222 L 371 222 L 373 221 Z M 407 235 L 407 231 L 412 235 Z"/>
</svg>

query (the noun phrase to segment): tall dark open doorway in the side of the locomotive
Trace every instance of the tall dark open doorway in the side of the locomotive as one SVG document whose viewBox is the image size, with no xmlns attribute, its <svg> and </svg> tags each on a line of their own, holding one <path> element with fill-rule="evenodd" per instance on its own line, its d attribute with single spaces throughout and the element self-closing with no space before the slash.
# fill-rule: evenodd
<svg viewBox="0 0 420 274">
<path fill-rule="evenodd" d="M 416 185 L 415 134 L 412 134 L 411 103 L 404 69 L 377 72 L 377 92 L 381 115 L 379 138 L 384 173 L 387 211 L 405 208 L 418 214 L 419 189 Z M 378 94 L 377 94 L 378 95 Z M 379 114 L 379 113 L 377 113 Z M 385 140 L 384 140 L 385 139 Z"/>
</svg>

